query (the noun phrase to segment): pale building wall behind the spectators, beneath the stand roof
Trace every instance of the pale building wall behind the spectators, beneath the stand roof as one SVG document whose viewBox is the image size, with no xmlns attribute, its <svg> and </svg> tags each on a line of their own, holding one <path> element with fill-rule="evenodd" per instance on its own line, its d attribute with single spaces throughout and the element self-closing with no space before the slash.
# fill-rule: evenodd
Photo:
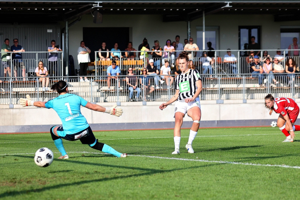
<svg viewBox="0 0 300 200">
<path fill-rule="evenodd" d="M 82 27 L 132 27 L 132 42 L 135 49 L 146 37 L 150 46 L 154 46 L 154 40 L 159 40 L 164 46 L 167 39 L 175 41 L 175 36 L 180 35 L 180 42 L 184 43 L 187 38 L 187 22 L 162 22 L 162 15 L 103 15 L 103 23 L 93 23 L 93 16 L 86 14 L 82 16 L 80 22 L 69 28 L 69 54 L 75 59 L 76 68 L 77 49 L 83 39 Z M 239 26 L 261 26 L 262 48 L 280 48 L 280 26 L 299 25 L 300 21 L 274 22 L 273 15 L 207 15 L 205 17 L 206 26 L 219 26 L 220 49 L 239 49 Z M 203 26 L 202 18 L 191 22 L 191 37 L 197 38 L 196 26 Z M 99 38 L 101 40 L 101 38 Z M 292 43 L 292 41 L 291 41 Z M 99 47 L 100 48 L 100 47 Z M 108 47 L 113 48 L 113 47 Z M 199 47 L 202 49 L 202 47 Z M 92 52 L 93 53 L 93 52 Z M 275 52 L 270 52 L 270 55 Z"/>
</svg>

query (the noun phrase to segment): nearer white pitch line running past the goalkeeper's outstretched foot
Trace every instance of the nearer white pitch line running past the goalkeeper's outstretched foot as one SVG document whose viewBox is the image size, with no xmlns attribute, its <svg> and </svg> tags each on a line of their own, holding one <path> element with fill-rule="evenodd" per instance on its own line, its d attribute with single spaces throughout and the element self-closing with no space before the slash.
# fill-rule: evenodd
<svg viewBox="0 0 300 200">
<path fill-rule="evenodd" d="M 80 152 L 68 152 L 68 153 L 80 153 L 80 154 L 107 154 L 101 152 L 87 152 L 87 151 L 80 151 Z M 27 155 L 27 154 L 35 154 L 35 153 L 18 153 L 18 154 L 0 154 L 0 156 L 5 155 Z M 59 152 L 53 152 L 53 154 L 60 154 Z M 110 155 L 110 154 L 109 154 Z M 284 168 L 293 168 L 293 169 L 300 169 L 300 166 L 289 166 L 289 165 L 271 165 L 271 164 L 255 164 L 255 163 L 244 163 L 244 162 L 230 162 L 230 161 L 215 161 L 215 160 L 202 160 L 202 159 L 187 159 L 187 158 L 169 158 L 169 157 L 160 157 L 160 156 L 146 156 L 146 155 L 131 155 L 128 156 L 134 157 L 144 157 L 144 158 L 159 158 L 159 159 L 168 159 L 168 160 L 180 160 L 180 161 L 195 161 L 195 162 L 210 162 L 210 163 L 222 163 L 222 164 L 234 164 L 234 165 L 251 165 L 251 166 L 264 166 L 264 167 L 284 167 Z M 72 158 L 72 157 L 71 157 Z"/>
</svg>

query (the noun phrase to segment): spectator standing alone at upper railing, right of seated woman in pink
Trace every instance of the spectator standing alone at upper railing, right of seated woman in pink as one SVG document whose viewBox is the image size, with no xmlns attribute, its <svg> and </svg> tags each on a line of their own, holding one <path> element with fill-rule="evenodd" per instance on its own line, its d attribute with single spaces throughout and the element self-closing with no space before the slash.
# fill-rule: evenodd
<svg viewBox="0 0 300 200">
<path fill-rule="evenodd" d="M 48 67 L 50 76 L 58 76 L 58 62 L 57 62 L 57 51 L 62 51 L 58 45 L 56 45 L 55 40 L 51 41 L 51 46 L 48 46 L 49 56 L 48 56 Z"/>
</svg>

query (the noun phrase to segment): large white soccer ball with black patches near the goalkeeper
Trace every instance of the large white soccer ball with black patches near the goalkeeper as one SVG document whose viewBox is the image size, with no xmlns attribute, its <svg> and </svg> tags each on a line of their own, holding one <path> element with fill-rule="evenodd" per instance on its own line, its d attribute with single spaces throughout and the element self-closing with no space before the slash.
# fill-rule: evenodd
<svg viewBox="0 0 300 200">
<path fill-rule="evenodd" d="M 34 162 L 40 167 L 48 167 L 53 161 L 53 153 L 50 149 L 43 147 L 34 155 Z"/>
</svg>

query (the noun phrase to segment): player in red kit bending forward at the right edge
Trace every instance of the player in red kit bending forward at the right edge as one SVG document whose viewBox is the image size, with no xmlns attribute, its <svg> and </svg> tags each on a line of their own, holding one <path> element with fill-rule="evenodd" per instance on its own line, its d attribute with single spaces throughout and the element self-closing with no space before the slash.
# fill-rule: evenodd
<svg viewBox="0 0 300 200">
<path fill-rule="evenodd" d="M 271 94 L 268 94 L 265 97 L 265 107 L 270 109 L 270 115 L 273 110 L 275 113 L 280 114 L 277 125 L 286 136 L 286 139 L 283 142 L 293 142 L 295 137 L 294 131 L 300 130 L 299 125 L 294 125 L 299 114 L 299 106 L 297 103 L 290 98 L 274 98 Z"/>
</svg>

